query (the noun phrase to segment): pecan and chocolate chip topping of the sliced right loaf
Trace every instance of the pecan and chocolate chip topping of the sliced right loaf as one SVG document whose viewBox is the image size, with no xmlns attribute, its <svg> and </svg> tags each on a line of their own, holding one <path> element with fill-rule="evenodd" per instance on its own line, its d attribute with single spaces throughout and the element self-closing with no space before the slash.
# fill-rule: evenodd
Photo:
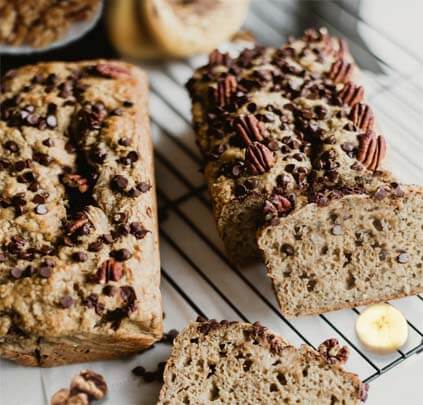
<svg viewBox="0 0 423 405">
<path fill-rule="evenodd" d="M 325 29 L 279 49 L 210 55 L 187 88 L 217 216 L 252 193 L 269 196 L 271 222 L 309 202 L 397 191 L 357 73 L 344 40 Z"/>
</svg>

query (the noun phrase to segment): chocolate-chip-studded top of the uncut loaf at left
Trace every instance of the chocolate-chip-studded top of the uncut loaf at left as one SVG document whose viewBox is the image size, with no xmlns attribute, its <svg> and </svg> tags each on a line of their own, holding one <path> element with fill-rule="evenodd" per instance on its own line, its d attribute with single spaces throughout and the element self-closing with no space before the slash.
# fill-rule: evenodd
<svg viewBox="0 0 423 405">
<path fill-rule="evenodd" d="M 0 343 L 160 337 L 147 91 L 142 71 L 114 61 L 4 76 Z"/>
</svg>

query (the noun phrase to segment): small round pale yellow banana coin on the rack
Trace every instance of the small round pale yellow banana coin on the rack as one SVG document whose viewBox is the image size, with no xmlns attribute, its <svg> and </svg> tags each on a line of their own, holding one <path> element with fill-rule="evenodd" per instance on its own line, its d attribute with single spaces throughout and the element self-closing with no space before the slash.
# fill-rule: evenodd
<svg viewBox="0 0 423 405">
<path fill-rule="evenodd" d="M 389 304 L 368 307 L 358 317 L 355 328 L 361 343 L 379 354 L 398 350 L 408 337 L 407 321 L 400 311 Z"/>
</svg>

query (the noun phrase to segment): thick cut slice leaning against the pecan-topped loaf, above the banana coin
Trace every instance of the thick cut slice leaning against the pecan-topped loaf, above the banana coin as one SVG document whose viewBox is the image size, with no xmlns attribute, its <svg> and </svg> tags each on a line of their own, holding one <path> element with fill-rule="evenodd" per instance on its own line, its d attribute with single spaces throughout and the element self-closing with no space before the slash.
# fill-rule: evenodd
<svg viewBox="0 0 423 405">
<path fill-rule="evenodd" d="M 259 231 L 287 316 L 319 314 L 423 292 L 423 189 L 308 204 Z"/>
</svg>

